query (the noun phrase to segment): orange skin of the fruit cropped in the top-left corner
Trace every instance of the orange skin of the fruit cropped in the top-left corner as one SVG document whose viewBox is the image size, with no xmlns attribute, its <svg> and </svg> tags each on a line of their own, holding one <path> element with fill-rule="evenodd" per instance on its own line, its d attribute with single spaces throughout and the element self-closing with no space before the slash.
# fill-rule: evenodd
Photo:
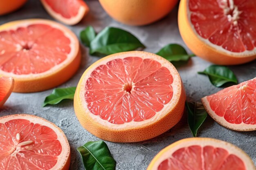
<svg viewBox="0 0 256 170">
<path fill-rule="evenodd" d="M 27 0 L 1 0 L 0 1 L 0 15 L 4 15 L 15 11 L 25 4 Z"/>
</svg>

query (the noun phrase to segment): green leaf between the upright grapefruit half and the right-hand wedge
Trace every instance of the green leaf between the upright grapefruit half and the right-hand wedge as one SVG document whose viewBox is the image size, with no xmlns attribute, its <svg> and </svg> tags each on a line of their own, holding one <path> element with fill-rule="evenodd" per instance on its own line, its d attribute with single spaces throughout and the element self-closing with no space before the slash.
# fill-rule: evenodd
<svg viewBox="0 0 256 170">
<path fill-rule="evenodd" d="M 199 74 L 208 75 L 211 84 L 220 87 L 227 82 L 237 83 L 236 75 L 225 66 L 211 65 Z"/>
</svg>

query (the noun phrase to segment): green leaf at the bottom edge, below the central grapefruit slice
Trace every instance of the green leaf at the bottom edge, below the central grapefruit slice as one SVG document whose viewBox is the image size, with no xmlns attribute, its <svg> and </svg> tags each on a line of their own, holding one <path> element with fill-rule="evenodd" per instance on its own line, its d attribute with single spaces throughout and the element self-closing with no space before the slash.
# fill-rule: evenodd
<svg viewBox="0 0 256 170">
<path fill-rule="evenodd" d="M 103 141 L 89 141 L 77 148 L 85 170 L 115 170 L 116 161 Z"/>
</svg>

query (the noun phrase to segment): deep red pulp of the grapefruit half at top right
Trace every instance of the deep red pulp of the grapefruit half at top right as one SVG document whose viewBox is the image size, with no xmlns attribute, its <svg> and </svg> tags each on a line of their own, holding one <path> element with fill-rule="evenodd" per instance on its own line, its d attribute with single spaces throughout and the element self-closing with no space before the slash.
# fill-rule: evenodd
<svg viewBox="0 0 256 170">
<path fill-rule="evenodd" d="M 232 52 L 256 47 L 254 0 L 189 0 L 190 20 L 204 39 Z"/>
</svg>

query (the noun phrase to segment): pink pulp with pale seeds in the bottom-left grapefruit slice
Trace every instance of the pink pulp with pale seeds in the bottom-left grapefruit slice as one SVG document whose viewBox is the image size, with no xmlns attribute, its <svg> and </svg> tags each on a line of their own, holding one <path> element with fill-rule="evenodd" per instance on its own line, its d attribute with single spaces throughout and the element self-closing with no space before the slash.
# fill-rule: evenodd
<svg viewBox="0 0 256 170">
<path fill-rule="evenodd" d="M 49 170 L 62 146 L 52 128 L 26 119 L 0 123 L 0 170 Z"/>
</svg>

